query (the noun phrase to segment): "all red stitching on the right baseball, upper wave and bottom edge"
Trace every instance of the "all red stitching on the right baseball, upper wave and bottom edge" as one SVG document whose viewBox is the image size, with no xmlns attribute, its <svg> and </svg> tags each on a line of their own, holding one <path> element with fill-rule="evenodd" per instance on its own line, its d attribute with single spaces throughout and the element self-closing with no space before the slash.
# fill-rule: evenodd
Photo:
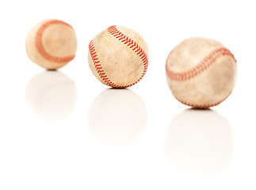
<svg viewBox="0 0 256 190">
<path fill-rule="evenodd" d="M 212 63 L 214 63 L 216 61 L 216 59 L 218 59 L 221 55 L 231 56 L 235 60 L 235 63 L 236 63 L 235 56 L 231 53 L 231 51 L 229 51 L 225 47 L 221 47 L 219 49 L 216 49 L 215 51 L 212 51 L 212 53 L 210 53 L 207 57 L 205 57 L 201 61 L 201 63 L 197 64 L 196 67 L 193 67 L 192 69 L 187 70 L 187 71 L 182 72 L 182 73 L 174 72 L 174 71 L 170 70 L 167 66 L 167 60 L 166 60 L 166 75 L 167 75 L 168 78 L 170 78 L 170 80 L 174 80 L 174 81 L 177 81 L 177 82 L 187 81 L 191 78 L 196 77 L 198 74 L 201 74 L 201 72 L 203 72 L 204 70 L 208 69 L 212 65 Z M 227 95 L 227 97 L 229 97 L 230 94 L 231 94 L 231 92 Z M 174 97 L 178 101 L 180 101 L 182 104 L 189 105 L 189 106 L 192 106 L 194 108 L 209 108 L 209 107 L 212 107 L 212 106 L 219 105 L 221 102 L 223 102 L 224 100 L 227 99 L 227 97 L 225 97 L 222 101 L 216 102 L 215 104 L 210 104 L 210 105 L 193 105 L 193 104 L 190 104 L 189 102 L 181 101 L 175 95 L 174 95 Z"/>
</svg>

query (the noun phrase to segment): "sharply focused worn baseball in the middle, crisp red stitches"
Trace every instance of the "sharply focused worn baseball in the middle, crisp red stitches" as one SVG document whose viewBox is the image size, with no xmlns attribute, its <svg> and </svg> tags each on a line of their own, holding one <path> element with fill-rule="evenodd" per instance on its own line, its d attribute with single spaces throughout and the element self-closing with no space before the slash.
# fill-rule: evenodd
<svg viewBox="0 0 256 190">
<path fill-rule="evenodd" d="M 90 42 L 90 70 L 102 83 L 126 88 L 139 82 L 147 71 L 147 44 L 137 32 L 110 26 Z"/>
</svg>

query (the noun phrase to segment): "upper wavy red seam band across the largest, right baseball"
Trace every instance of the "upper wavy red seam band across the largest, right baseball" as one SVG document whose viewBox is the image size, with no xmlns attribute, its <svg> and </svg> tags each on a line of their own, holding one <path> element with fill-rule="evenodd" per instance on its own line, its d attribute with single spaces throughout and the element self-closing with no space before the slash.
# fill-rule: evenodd
<svg viewBox="0 0 256 190">
<path fill-rule="evenodd" d="M 206 70 L 208 67 L 212 65 L 216 61 L 217 58 L 220 57 L 220 55 L 229 55 L 233 59 L 235 59 L 234 55 L 225 47 L 221 47 L 217 49 L 216 51 L 212 51 L 210 55 L 205 57 L 201 63 L 197 64 L 196 67 L 193 67 L 191 70 L 187 70 L 183 73 L 178 73 L 170 70 L 167 67 L 167 60 L 166 60 L 166 74 L 167 76 L 174 81 L 186 81 L 189 80 L 190 78 L 193 78 L 197 76 L 197 74 L 200 74 L 204 70 Z M 236 60 L 235 60 L 236 63 Z"/>
</svg>

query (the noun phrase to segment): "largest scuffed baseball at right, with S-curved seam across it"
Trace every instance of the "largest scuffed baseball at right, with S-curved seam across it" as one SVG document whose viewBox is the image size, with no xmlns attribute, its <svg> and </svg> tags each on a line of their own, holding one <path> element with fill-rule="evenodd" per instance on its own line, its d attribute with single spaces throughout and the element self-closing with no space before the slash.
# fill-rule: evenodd
<svg viewBox="0 0 256 190">
<path fill-rule="evenodd" d="M 170 51 L 166 78 L 174 97 L 185 105 L 219 105 L 235 85 L 234 55 L 216 40 L 194 37 Z"/>
</svg>

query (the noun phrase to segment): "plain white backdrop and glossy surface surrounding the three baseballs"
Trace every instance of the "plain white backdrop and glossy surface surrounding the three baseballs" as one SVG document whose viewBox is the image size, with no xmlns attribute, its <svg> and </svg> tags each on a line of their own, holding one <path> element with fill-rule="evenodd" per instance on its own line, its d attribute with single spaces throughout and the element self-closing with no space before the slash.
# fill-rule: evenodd
<svg viewBox="0 0 256 190">
<path fill-rule="evenodd" d="M 0 189 L 256 189 L 254 1 L 2 1 Z M 58 72 L 32 63 L 29 29 L 46 18 L 75 28 L 75 59 Z M 108 89 L 87 63 L 110 25 L 139 32 L 145 77 Z M 181 105 L 165 61 L 191 36 L 237 59 L 235 89 L 210 110 Z"/>
</svg>

